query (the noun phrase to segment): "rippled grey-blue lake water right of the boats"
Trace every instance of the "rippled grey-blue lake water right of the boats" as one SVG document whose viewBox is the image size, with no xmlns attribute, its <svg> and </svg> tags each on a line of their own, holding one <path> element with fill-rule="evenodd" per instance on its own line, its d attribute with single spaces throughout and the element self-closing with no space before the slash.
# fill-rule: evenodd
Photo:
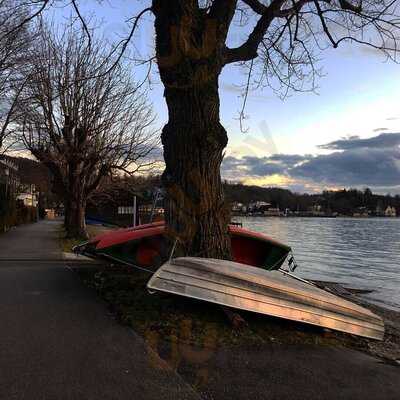
<svg viewBox="0 0 400 400">
<path fill-rule="evenodd" d="M 400 310 L 400 218 L 235 218 L 292 247 L 303 278 L 373 289 L 364 295 Z"/>
</svg>

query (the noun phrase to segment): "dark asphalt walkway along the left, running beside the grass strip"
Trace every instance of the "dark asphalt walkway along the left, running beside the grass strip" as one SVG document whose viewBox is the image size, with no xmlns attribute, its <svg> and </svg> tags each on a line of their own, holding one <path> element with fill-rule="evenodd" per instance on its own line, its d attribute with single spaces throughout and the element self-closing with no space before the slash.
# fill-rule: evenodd
<svg viewBox="0 0 400 400">
<path fill-rule="evenodd" d="M 0 235 L 0 399 L 198 398 L 51 261 L 61 259 L 58 231 L 43 221 Z"/>
</svg>

